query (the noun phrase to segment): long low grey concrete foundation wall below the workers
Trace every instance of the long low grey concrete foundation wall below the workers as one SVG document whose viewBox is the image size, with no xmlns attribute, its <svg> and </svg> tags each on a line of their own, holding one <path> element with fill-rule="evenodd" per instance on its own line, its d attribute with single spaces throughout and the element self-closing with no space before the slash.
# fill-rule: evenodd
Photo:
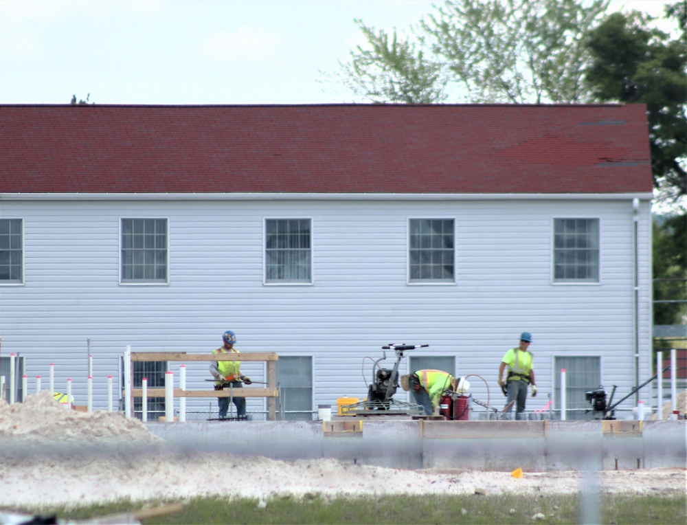
<svg viewBox="0 0 687 525">
<path fill-rule="evenodd" d="M 608 423 L 616 423 L 612 429 Z M 275 460 L 333 458 L 401 469 L 626 470 L 687 465 L 684 421 L 322 421 L 146 423 L 188 451 Z"/>
</svg>

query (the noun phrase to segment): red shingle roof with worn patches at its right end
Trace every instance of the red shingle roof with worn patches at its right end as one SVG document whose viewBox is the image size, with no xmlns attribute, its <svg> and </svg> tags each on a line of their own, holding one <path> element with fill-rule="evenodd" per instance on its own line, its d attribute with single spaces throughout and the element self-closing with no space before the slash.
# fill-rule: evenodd
<svg viewBox="0 0 687 525">
<path fill-rule="evenodd" d="M 651 192 L 643 105 L 0 106 L 0 192 Z"/>
</svg>

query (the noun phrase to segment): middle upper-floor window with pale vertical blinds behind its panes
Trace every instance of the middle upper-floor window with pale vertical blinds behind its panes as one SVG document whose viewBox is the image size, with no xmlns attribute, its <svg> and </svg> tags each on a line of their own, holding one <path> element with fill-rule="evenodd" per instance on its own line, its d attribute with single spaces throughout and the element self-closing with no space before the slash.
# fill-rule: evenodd
<svg viewBox="0 0 687 525">
<path fill-rule="evenodd" d="M 265 282 L 312 282 L 311 219 L 265 219 Z"/>
</svg>

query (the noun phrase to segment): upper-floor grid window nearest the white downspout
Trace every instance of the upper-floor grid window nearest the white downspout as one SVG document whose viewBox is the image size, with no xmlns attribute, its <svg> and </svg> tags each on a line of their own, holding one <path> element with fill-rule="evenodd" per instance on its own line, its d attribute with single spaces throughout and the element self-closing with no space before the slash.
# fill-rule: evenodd
<svg viewBox="0 0 687 525">
<path fill-rule="evenodd" d="M 554 282 L 599 282 L 599 220 L 554 219 Z"/>
</svg>

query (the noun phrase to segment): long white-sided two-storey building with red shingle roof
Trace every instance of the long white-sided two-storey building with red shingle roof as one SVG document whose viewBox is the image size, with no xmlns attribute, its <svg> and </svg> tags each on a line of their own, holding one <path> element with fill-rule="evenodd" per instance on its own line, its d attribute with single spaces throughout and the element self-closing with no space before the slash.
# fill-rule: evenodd
<svg viewBox="0 0 687 525">
<path fill-rule="evenodd" d="M 91 354 L 102 409 L 127 345 L 210 353 L 232 329 L 278 353 L 286 418 L 364 399 L 390 343 L 429 345 L 401 373 L 473 375 L 501 406 L 530 331 L 528 410 L 557 409 L 561 368 L 585 409 L 651 376 L 651 198 L 642 106 L 2 106 L 1 370 L 14 353 L 33 393 L 53 363 L 85 404 Z"/>
</svg>

